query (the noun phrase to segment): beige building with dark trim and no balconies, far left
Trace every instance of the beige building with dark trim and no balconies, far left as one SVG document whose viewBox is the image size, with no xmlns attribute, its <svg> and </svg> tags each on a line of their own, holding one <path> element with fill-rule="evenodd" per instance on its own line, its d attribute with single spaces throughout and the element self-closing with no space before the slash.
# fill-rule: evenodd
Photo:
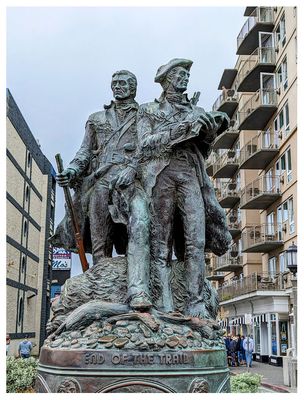
<svg viewBox="0 0 304 400">
<path fill-rule="evenodd" d="M 7 90 L 6 332 L 9 355 L 28 336 L 38 354 L 50 310 L 55 171 Z"/>
</svg>

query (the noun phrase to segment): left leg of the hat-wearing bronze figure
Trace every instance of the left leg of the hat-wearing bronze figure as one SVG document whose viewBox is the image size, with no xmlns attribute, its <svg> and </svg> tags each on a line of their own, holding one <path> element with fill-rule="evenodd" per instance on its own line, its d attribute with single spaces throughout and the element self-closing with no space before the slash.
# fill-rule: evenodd
<svg viewBox="0 0 304 400">
<path fill-rule="evenodd" d="M 157 178 L 151 199 L 151 290 L 156 308 L 174 310 L 170 285 L 175 182 L 166 169 Z"/>
</svg>

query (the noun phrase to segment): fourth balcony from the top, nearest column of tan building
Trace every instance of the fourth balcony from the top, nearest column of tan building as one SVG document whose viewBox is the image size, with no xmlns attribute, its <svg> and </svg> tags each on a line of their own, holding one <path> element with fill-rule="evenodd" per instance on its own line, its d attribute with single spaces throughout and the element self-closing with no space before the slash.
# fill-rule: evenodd
<svg viewBox="0 0 304 400">
<path fill-rule="evenodd" d="M 274 134 L 255 136 L 240 151 L 240 169 L 265 169 L 279 153 Z"/>
</svg>

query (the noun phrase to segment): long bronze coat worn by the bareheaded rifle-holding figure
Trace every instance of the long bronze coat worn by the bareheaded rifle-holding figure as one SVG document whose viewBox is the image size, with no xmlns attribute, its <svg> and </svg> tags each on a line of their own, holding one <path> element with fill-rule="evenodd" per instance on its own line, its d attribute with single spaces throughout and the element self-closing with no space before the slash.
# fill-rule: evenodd
<svg viewBox="0 0 304 400">
<path fill-rule="evenodd" d="M 72 182 L 75 191 L 73 203 L 87 253 L 92 252 L 89 204 L 96 182 L 94 174 L 100 169 L 102 172 L 98 179 L 110 181 L 119 171 L 132 164 L 136 150 L 138 104 L 133 101 L 117 110 L 115 103 L 111 102 L 104 108 L 103 111 L 89 116 L 81 147 L 68 165 L 68 168 L 77 172 L 77 179 Z M 118 118 L 119 112 L 124 116 L 121 121 Z M 68 210 L 57 226 L 55 234 L 50 238 L 50 243 L 53 246 L 77 251 Z M 114 226 L 114 245 L 118 254 L 125 253 L 127 231 L 122 224 Z"/>
</svg>

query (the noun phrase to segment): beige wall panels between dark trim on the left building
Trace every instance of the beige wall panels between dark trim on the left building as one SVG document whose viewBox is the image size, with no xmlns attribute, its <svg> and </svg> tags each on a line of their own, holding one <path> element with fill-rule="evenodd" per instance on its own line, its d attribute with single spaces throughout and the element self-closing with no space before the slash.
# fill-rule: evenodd
<svg viewBox="0 0 304 400">
<path fill-rule="evenodd" d="M 30 216 L 35 220 L 35 222 L 41 226 L 41 231 L 39 231 L 31 222 L 28 221 L 28 250 L 39 258 L 39 263 L 35 262 L 30 257 L 27 257 L 25 284 L 38 289 L 38 295 L 29 298 L 29 296 L 31 296 L 33 293 L 29 291 L 24 293 L 23 320 L 23 332 L 35 332 L 36 337 L 30 338 L 30 340 L 33 342 L 33 344 L 38 344 L 41 319 L 48 177 L 41 173 L 35 160 L 31 159 L 31 164 L 28 166 L 26 147 L 9 119 L 7 119 L 7 148 L 12 153 L 22 170 L 24 170 L 26 175 L 31 178 L 32 183 L 34 183 L 36 189 L 42 196 L 41 201 L 34 190 L 29 186 L 30 207 L 29 203 L 25 202 L 24 208 L 25 211 L 29 212 Z M 31 168 L 32 174 L 30 173 Z M 20 206 L 23 206 L 24 178 L 8 158 L 7 191 Z M 6 204 L 7 235 L 16 242 L 25 246 L 26 241 L 22 233 L 22 214 L 9 201 L 7 201 Z M 19 270 L 21 270 L 20 251 L 10 244 L 7 244 L 7 278 L 18 282 Z M 20 281 L 22 283 L 24 282 L 24 273 L 22 272 Z M 7 286 L 7 332 L 15 332 L 17 317 L 17 295 L 18 289 Z M 21 295 L 23 296 L 22 290 L 20 290 L 20 296 Z M 19 325 L 17 327 L 17 332 L 21 332 L 21 327 Z M 21 340 L 11 340 L 9 354 L 17 355 L 17 348 L 20 341 Z M 32 354 L 38 354 L 38 346 L 34 347 Z"/>
</svg>

